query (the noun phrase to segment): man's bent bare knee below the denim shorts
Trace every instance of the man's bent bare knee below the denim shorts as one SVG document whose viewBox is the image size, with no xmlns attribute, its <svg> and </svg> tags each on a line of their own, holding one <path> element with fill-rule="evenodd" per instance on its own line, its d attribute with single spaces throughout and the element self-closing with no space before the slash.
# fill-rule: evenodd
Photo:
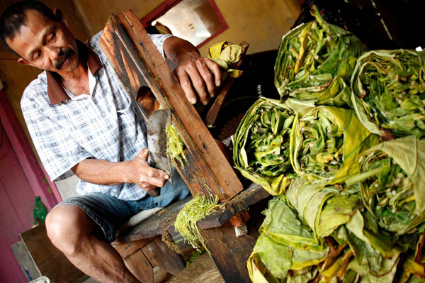
<svg viewBox="0 0 425 283">
<path fill-rule="evenodd" d="M 72 204 L 57 206 L 46 217 L 48 237 L 56 248 L 69 256 L 79 253 L 93 228 L 91 218 Z"/>
</svg>

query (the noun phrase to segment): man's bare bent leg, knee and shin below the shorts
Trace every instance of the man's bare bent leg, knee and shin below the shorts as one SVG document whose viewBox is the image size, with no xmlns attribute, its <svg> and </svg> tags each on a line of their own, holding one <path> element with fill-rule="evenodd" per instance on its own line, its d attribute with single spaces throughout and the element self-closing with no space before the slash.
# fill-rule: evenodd
<svg viewBox="0 0 425 283">
<path fill-rule="evenodd" d="M 82 209 L 62 204 L 46 218 L 47 235 L 79 270 L 102 283 L 140 283 L 109 244 L 93 235 L 97 224 Z"/>
</svg>

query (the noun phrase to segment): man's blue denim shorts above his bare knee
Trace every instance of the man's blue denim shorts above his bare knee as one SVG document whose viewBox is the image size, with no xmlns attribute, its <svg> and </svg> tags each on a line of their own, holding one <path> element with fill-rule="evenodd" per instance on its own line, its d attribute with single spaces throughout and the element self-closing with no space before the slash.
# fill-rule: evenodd
<svg viewBox="0 0 425 283">
<path fill-rule="evenodd" d="M 168 206 L 191 194 L 175 169 L 173 171 L 173 182 L 174 186 L 170 182 L 166 182 L 165 186 L 161 188 L 160 196 L 147 195 L 138 201 L 123 201 L 108 194 L 86 194 L 66 199 L 57 206 L 62 204 L 78 206 L 96 222 L 94 234 L 102 240 L 112 243 L 115 240 L 118 228 L 135 214 L 154 207 Z"/>
</svg>

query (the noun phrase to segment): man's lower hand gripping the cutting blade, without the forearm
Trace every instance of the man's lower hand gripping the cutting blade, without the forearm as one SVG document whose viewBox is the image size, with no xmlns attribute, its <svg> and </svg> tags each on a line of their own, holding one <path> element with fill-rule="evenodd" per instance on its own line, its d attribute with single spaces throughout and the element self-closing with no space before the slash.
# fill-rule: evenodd
<svg viewBox="0 0 425 283">
<path fill-rule="evenodd" d="M 155 169 L 151 167 L 147 162 L 149 150 L 143 148 L 134 160 L 128 163 L 129 171 L 128 183 L 137 184 L 137 186 L 150 191 L 157 187 L 164 187 L 166 181 L 169 179 L 169 175 L 163 170 Z"/>
</svg>

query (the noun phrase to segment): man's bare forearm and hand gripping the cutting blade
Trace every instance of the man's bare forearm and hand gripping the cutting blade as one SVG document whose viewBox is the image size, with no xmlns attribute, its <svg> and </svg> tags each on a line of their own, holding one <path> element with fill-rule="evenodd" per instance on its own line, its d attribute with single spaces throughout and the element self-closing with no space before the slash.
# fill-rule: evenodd
<svg viewBox="0 0 425 283">
<path fill-rule="evenodd" d="M 164 187 L 169 176 L 166 172 L 149 166 L 148 150 L 142 149 L 134 160 L 108 162 L 106 160 L 86 159 L 72 167 L 77 176 L 92 184 L 134 183 L 149 191 Z"/>
</svg>

